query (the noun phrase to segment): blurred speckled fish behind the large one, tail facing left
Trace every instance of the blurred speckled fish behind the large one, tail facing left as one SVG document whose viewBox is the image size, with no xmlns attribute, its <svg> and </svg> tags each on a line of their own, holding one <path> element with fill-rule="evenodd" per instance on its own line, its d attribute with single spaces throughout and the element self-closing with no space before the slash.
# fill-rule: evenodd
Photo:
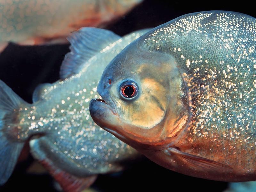
<svg viewBox="0 0 256 192">
<path fill-rule="evenodd" d="M 117 172 L 139 153 L 98 127 L 89 101 L 107 64 L 148 29 L 120 37 L 98 28 L 81 28 L 68 37 L 69 52 L 60 80 L 41 84 L 33 103 L 0 81 L 0 184 L 10 177 L 26 140 L 32 155 L 65 191 L 81 191 L 97 174 Z"/>
</svg>

